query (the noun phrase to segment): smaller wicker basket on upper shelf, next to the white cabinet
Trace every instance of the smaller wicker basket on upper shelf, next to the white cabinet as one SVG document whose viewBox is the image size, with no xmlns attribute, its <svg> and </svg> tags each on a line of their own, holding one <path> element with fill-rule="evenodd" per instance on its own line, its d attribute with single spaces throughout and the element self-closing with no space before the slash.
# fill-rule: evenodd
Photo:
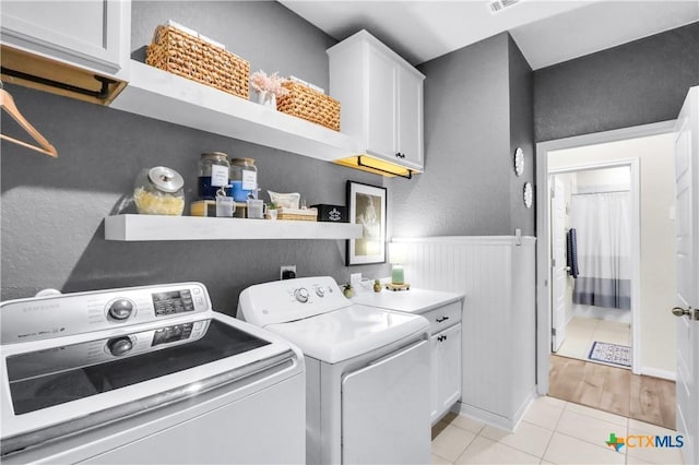
<svg viewBox="0 0 699 465">
<path fill-rule="evenodd" d="M 340 102 L 297 82 L 282 84 L 289 91 L 276 99 L 276 109 L 340 131 Z"/>
</svg>

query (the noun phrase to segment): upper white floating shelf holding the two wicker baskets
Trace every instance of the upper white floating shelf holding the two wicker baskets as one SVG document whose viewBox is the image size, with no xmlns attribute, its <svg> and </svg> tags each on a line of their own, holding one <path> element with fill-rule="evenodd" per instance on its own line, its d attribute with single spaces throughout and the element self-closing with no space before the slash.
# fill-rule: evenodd
<svg viewBox="0 0 699 465">
<path fill-rule="evenodd" d="M 327 162 L 362 152 L 342 132 L 140 61 L 130 67 L 129 85 L 111 108 Z"/>
</svg>

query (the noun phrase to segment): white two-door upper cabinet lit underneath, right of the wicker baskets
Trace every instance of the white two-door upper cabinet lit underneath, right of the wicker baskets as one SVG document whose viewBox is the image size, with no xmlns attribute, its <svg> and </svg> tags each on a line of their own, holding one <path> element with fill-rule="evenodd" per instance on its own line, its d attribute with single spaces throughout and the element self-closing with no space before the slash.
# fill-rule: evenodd
<svg viewBox="0 0 699 465">
<path fill-rule="evenodd" d="M 423 169 L 423 81 L 407 61 L 360 31 L 328 50 L 330 95 L 341 104 L 342 132 L 365 153 Z"/>
</svg>

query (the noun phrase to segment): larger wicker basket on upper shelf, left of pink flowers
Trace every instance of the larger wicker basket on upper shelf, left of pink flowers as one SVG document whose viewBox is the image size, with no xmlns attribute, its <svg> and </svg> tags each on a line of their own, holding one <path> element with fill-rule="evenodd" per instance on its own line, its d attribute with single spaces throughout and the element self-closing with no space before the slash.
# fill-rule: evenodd
<svg viewBox="0 0 699 465">
<path fill-rule="evenodd" d="M 247 60 L 173 26 L 155 28 L 145 62 L 245 99 L 249 96 Z"/>
</svg>

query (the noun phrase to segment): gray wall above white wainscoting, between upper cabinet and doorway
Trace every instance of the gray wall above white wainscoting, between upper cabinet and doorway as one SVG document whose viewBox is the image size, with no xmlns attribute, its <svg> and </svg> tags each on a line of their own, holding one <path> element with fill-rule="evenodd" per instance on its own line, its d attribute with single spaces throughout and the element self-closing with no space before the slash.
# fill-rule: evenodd
<svg viewBox="0 0 699 465">
<path fill-rule="evenodd" d="M 522 203 L 533 180 L 531 68 L 503 33 L 420 64 L 425 172 L 392 179 L 395 237 L 534 234 Z M 526 177 L 512 169 L 526 154 Z"/>
</svg>

